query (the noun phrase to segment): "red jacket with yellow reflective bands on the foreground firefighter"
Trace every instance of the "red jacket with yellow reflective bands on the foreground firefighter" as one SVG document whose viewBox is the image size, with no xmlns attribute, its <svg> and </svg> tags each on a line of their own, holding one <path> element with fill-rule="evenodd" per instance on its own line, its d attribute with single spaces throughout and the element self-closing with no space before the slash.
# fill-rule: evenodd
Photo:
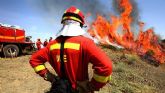
<svg viewBox="0 0 165 93">
<path fill-rule="evenodd" d="M 45 48 L 34 53 L 30 64 L 40 76 L 48 71 L 44 63 L 49 62 L 59 77 L 60 72 L 60 38 L 49 43 Z M 72 87 L 77 81 L 88 80 L 88 64 L 93 64 L 94 74 L 91 83 L 100 89 L 110 79 L 112 62 L 94 42 L 83 36 L 67 37 L 64 44 L 65 72 Z"/>
</svg>

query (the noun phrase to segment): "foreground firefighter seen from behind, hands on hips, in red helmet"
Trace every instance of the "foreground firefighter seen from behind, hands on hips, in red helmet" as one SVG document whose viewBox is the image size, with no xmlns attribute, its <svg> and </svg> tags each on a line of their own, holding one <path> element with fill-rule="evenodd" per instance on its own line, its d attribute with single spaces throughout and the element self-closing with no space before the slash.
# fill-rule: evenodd
<svg viewBox="0 0 165 93">
<path fill-rule="evenodd" d="M 57 38 L 32 55 L 29 61 L 31 66 L 37 74 L 51 83 L 63 78 L 68 80 L 72 92 L 56 91 L 57 93 L 93 93 L 93 91 L 99 91 L 110 80 L 111 60 L 95 45 L 93 40 L 83 36 L 86 33 L 82 29 L 84 15 L 78 8 L 74 6 L 68 8 L 62 16 L 61 23 L 63 27 Z M 63 50 L 61 49 L 62 46 Z M 63 56 L 61 56 L 62 53 Z M 50 63 L 58 77 L 49 72 L 44 65 L 45 62 Z M 89 63 L 93 65 L 94 69 L 91 80 L 88 78 Z M 57 88 L 54 90 L 60 89 L 59 83 L 56 84 Z"/>
</svg>

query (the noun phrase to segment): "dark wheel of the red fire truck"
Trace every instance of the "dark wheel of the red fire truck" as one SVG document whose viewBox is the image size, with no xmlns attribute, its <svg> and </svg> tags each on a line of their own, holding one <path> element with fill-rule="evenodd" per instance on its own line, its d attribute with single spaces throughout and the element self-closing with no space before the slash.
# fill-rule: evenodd
<svg viewBox="0 0 165 93">
<path fill-rule="evenodd" d="M 9 44 L 4 46 L 3 53 L 5 57 L 17 57 L 19 54 L 19 48 L 16 45 Z"/>
</svg>

